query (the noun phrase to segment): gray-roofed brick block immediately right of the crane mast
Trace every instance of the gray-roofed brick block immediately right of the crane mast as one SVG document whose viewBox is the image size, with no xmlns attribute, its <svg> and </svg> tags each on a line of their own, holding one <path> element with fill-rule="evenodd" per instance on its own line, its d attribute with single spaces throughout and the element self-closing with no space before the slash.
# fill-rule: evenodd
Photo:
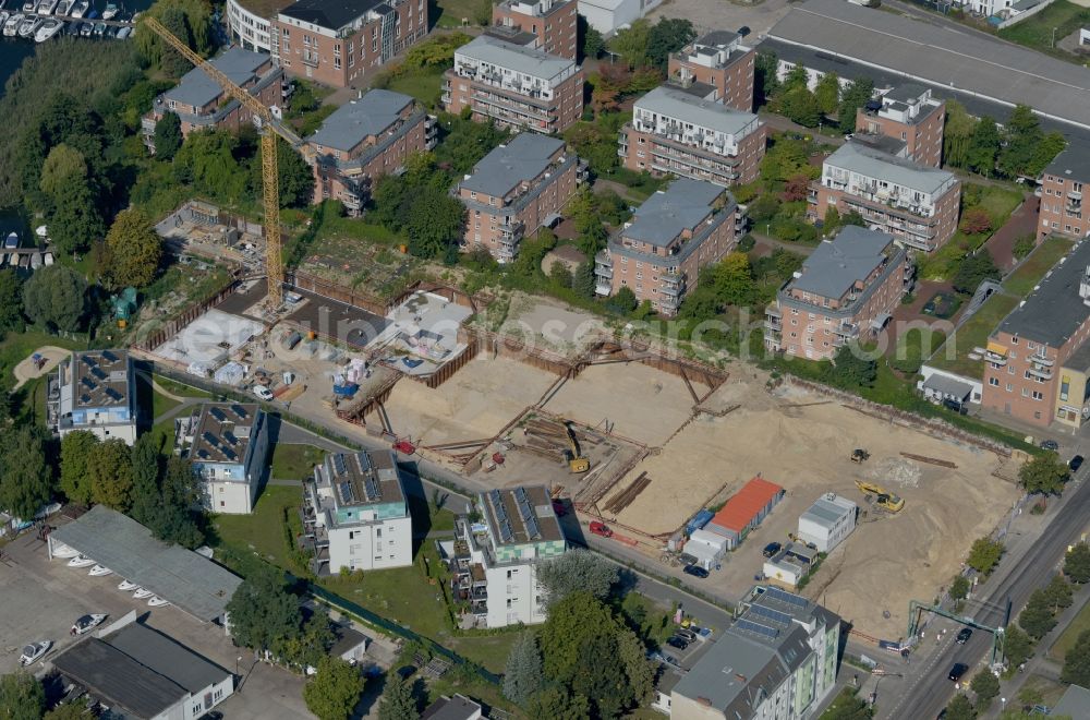
<svg viewBox="0 0 1090 720">
<path fill-rule="evenodd" d="M 373 89 L 349 100 L 306 139 L 314 202 L 339 200 L 359 215 L 372 183 L 399 171 L 412 153 L 435 147 L 436 127 L 423 106 L 401 93 Z"/>
</svg>

